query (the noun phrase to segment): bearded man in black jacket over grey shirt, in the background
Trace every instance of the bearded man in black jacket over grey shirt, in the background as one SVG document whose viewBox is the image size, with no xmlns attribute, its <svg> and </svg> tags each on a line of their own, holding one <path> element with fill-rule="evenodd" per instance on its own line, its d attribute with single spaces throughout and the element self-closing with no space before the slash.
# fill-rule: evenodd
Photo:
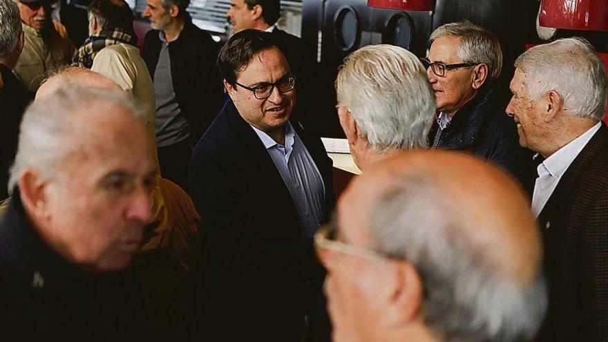
<svg viewBox="0 0 608 342">
<path fill-rule="evenodd" d="M 153 30 L 146 34 L 142 53 L 154 82 L 160 170 L 184 189 L 192 146 L 207 131 L 224 98 L 216 44 L 192 23 L 189 3 L 147 1 L 144 17 Z"/>
</svg>

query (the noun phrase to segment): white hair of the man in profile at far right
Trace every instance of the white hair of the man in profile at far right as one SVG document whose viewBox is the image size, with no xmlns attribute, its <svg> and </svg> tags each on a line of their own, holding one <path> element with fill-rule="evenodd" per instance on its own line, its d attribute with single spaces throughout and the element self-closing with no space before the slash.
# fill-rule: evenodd
<svg viewBox="0 0 608 342">
<path fill-rule="evenodd" d="M 534 46 L 517 57 L 515 67 L 526 74 L 531 99 L 554 90 L 571 115 L 599 121 L 606 114 L 606 68 L 587 40 L 558 39 Z"/>
</svg>

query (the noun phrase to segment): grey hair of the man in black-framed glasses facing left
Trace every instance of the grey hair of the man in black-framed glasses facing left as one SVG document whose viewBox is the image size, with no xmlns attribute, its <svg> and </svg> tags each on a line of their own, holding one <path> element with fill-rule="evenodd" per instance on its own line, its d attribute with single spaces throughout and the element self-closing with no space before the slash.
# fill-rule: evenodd
<svg viewBox="0 0 608 342">
<path fill-rule="evenodd" d="M 428 46 L 441 37 L 457 37 L 460 44 L 456 55 L 464 63 L 479 63 L 488 66 L 488 75 L 496 79 L 502 71 L 502 49 L 498 38 L 490 31 L 471 21 L 458 21 L 439 26 L 430 35 Z"/>
</svg>

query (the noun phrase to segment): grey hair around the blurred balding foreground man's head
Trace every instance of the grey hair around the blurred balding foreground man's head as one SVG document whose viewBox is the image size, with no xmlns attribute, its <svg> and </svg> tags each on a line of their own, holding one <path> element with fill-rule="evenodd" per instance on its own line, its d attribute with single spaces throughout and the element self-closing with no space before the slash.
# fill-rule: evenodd
<svg viewBox="0 0 608 342">
<path fill-rule="evenodd" d="M 415 266 L 424 284 L 424 322 L 442 341 L 529 341 L 547 307 L 542 273 L 525 284 L 506 278 L 490 265 L 487 250 L 458 234 L 462 219 L 446 213 L 451 208 L 428 178 L 397 180 L 368 215 L 372 247 Z"/>
</svg>

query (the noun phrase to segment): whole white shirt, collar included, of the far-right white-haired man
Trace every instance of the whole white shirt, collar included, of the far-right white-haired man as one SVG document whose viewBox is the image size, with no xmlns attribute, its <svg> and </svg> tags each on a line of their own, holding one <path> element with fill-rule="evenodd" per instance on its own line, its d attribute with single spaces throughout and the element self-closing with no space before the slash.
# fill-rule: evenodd
<svg viewBox="0 0 608 342">
<path fill-rule="evenodd" d="M 582 133 L 575 140 L 572 140 L 557 152 L 549 155 L 549 158 L 538 165 L 536 169 L 538 178 L 536 178 L 534 193 L 532 195 L 532 212 L 534 213 L 534 217 L 538 217 L 540 211 L 542 211 L 542 208 L 547 204 L 551 194 L 558 186 L 562 175 L 564 175 L 570 164 L 576 159 L 578 153 L 585 148 L 591 137 L 600 129 L 600 126 L 602 126 L 602 122 L 598 122 L 587 132 Z"/>
</svg>

